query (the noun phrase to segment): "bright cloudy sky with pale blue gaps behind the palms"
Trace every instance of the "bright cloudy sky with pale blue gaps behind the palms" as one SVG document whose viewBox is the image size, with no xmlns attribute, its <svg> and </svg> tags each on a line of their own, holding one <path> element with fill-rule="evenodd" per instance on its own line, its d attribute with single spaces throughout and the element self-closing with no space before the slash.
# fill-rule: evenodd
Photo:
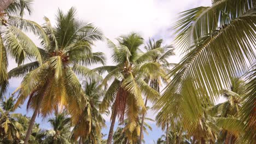
<svg viewBox="0 0 256 144">
<path fill-rule="evenodd" d="M 163 39 L 165 44 L 173 44 L 172 26 L 177 20 L 178 13 L 209 5 L 211 5 L 211 0 L 35 0 L 32 5 L 32 15 L 25 16 L 25 18 L 43 24 L 43 17 L 46 16 L 54 25 L 58 8 L 66 12 L 74 7 L 77 9 L 78 19 L 94 23 L 110 40 L 114 40 L 120 35 L 136 32 L 141 34 L 146 41 L 149 38 L 154 38 Z M 33 35 L 30 37 L 38 44 L 36 37 Z M 106 41 L 97 41 L 93 50 L 104 52 L 107 56 L 107 65 L 112 64 Z M 170 62 L 177 63 L 179 59 L 179 55 L 173 56 L 170 58 Z M 8 69 L 11 70 L 15 67 L 15 61 L 10 59 Z M 8 92 L 13 92 L 20 85 L 20 82 L 21 79 L 11 79 Z M 32 112 L 27 112 L 24 105 L 17 112 L 32 116 Z M 147 117 L 154 119 L 155 115 L 152 111 L 149 111 Z M 107 126 L 109 126 L 109 117 L 105 116 L 105 118 Z M 50 129 L 46 119 L 38 117 L 36 122 L 40 123 L 43 129 Z M 145 135 L 145 141 L 153 144 L 164 132 L 156 127 L 154 122 L 149 123 L 153 130 L 149 131 L 149 135 Z M 104 128 L 103 133 L 108 134 L 108 130 L 109 127 Z"/>
</svg>

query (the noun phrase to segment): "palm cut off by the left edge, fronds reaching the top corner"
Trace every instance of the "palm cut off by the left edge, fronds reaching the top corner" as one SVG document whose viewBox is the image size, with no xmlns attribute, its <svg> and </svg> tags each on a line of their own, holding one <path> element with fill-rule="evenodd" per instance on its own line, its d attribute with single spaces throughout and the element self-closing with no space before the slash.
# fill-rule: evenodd
<svg viewBox="0 0 256 144">
<path fill-rule="evenodd" d="M 1 1 L 5 2 L 7 1 Z M 37 47 L 30 45 L 30 38 L 22 31 L 40 33 L 35 22 L 21 18 L 26 11 L 31 14 L 31 2 L 14 1 L 3 11 L 0 10 L 0 98 L 8 87 L 7 55 L 13 57 L 18 65 L 24 63 L 26 58 L 39 55 Z M 2 6 L 4 5 L 1 4 Z"/>
</svg>

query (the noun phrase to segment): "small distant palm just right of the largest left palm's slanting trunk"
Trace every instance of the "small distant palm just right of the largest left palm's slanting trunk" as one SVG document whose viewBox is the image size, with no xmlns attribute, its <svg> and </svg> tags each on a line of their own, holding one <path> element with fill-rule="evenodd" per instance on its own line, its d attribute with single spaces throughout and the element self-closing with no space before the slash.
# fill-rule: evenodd
<svg viewBox="0 0 256 144">
<path fill-rule="evenodd" d="M 53 129 L 45 131 L 45 139 L 42 143 L 61 143 L 69 144 L 69 137 L 71 136 L 71 118 L 66 116 L 66 113 L 55 114 L 54 118 L 48 121 Z"/>
</svg>

